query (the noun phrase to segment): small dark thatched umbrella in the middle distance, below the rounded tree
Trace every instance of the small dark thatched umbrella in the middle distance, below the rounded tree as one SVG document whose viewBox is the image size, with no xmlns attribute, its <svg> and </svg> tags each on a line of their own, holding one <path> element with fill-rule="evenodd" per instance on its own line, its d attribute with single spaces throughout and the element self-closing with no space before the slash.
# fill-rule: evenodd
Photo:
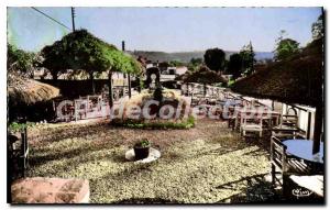
<svg viewBox="0 0 330 210">
<path fill-rule="evenodd" d="M 206 85 L 207 84 L 218 84 L 218 82 L 227 82 L 227 79 L 223 78 L 220 74 L 210 70 L 206 66 L 201 66 L 198 70 L 193 73 L 186 73 L 180 76 L 180 79 L 184 82 L 197 82 L 204 85 L 204 95 L 206 95 Z"/>
</svg>

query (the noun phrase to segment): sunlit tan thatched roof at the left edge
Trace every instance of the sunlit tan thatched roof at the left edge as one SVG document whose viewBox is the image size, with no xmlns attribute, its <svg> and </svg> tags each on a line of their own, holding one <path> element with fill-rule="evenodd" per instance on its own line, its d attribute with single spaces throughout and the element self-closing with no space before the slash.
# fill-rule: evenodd
<svg viewBox="0 0 330 210">
<path fill-rule="evenodd" d="M 7 96 L 11 104 L 32 104 L 59 95 L 59 89 L 33 79 L 8 74 Z"/>
</svg>

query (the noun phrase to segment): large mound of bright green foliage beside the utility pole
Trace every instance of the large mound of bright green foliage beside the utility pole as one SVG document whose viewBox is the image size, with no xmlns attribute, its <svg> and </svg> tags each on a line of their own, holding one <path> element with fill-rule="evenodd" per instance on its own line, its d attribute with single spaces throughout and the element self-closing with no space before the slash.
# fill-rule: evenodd
<svg viewBox="0 0 330 210">
<path fill-rule="evenodd" d="M 52 46 L 42 49 L 43 66 L 54 77 L 66 69 L 84 69 L 91 77 L 94 73 L 122 71 L 140 74 L 141 65 L 130 55 L 118 51 L 86 30 L 67 34 Z"/>
</svg>

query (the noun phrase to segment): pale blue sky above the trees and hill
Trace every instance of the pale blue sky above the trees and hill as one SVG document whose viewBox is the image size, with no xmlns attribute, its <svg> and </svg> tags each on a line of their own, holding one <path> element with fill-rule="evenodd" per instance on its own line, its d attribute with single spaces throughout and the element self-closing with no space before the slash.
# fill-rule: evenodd
<svg viewBox="0 0 330 210">
<path fill-rule="evenodd" d="M 36 8 L 72 29 L 70 8 Z M 272 52 L 280 30 L 305 46 L 321 8 L 75 8 L 76 29 L 129 51 Z M 8 8 L 8 42 L 40 51 L 70 31 L 32 8 Z"/>
</svg>

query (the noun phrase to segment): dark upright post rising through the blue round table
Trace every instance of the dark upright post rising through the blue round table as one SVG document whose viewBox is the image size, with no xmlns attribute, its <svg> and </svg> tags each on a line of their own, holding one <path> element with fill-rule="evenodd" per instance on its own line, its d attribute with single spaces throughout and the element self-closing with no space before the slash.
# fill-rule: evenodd
<svg viewBox="0 0 330 210">
<path fill-rule="evenodd" d="M 320 152 L 320 141 L 323 126 L 323 106 L 318 104 L 315 113 L 312 154 Z"/>
</svg>

